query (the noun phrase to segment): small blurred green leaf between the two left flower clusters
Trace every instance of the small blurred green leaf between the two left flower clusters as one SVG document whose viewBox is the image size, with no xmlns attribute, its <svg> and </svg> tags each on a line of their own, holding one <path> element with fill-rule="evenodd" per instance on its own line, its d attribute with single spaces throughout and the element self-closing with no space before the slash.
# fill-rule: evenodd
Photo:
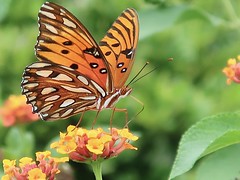
<svg viewBox="0 0 240 180">
<path fill-rule="evenodd" d="M 6 136 L 5 143 L 6 146 L 3 148 L 5 158 L 19 159 L 33 155 L 34 136 L 21 127 L 12 127 Z"/>
</svg>

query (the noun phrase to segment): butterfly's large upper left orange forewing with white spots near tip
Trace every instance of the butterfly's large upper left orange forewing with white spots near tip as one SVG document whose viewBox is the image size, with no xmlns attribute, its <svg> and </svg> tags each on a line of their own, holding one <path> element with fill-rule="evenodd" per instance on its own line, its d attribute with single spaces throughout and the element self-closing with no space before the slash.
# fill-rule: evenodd
<svg viewBox="0 0 240 180">
<path fill-rule="evenodd" d="M 52 61 L 90 77 L 112 90 L 109 65 L 84 25 L 65 8 L 46 2 L 39 11 L 40 34 L 35 46 L 40 61 Z"/>
</svg>

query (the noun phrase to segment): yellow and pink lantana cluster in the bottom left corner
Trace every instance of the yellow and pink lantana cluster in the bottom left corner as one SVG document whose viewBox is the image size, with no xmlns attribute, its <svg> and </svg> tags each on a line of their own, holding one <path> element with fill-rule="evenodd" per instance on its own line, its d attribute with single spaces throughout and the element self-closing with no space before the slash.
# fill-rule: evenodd
<svg viewBox="0 0 240 180">
<path fill-rule="evenodd" d="M 68 157 L 51 157 L 50 151 L 37 152 L 36 161 L 29 157 L 23 157 L 19 160 L 18 166 L 16 165 L 16 160 L 4 159 L 3 168 L 5 175 L 2 177 L 2 180 L 53 180 L 55 175 L 60 173 L 58 169 L 59 164 L 68 160 Z"/>
</svg>

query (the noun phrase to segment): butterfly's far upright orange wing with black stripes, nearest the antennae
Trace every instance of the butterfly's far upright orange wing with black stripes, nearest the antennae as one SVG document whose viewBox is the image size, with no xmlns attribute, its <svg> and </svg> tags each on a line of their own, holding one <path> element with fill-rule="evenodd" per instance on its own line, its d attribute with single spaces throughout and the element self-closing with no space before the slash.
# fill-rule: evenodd
<svg viewBox="0 0 240 180">
<path fill-rule="evenodd" d="M 114 88 L 124 86 L 131 72 L 139 36 L 138 15 L 126 9 L 99 43 L 110 64 Z"/>
</svg>

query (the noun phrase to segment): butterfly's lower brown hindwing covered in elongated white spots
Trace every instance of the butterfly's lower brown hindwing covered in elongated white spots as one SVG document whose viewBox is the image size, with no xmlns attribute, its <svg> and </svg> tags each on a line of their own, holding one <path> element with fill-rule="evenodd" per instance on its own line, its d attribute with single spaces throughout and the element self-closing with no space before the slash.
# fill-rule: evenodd
<svg viewBox="0 0 240 180">
<path fill-rule="evenodd" d="M 65 119 L 96 109 L 97 99 L 106 96 L 94 81 L 69 67 L 35 62 L 23 74 L 22 93 L 43 120 Z"/>
</svg>

